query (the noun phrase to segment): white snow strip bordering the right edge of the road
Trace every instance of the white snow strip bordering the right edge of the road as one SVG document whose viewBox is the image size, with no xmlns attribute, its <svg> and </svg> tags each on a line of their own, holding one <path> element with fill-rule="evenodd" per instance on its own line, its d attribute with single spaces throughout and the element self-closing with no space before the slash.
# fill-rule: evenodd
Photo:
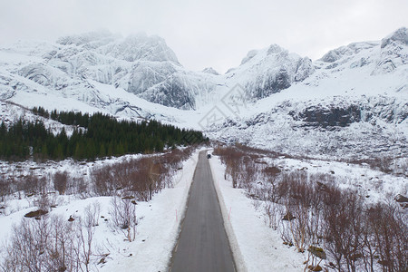
<svg viewBox="0 0 408 272">
<path fill-rule="evenodd" d="M 268 228 L 264 216 L 245 195 L 224 179 L 225 166 L 218 156 L 209 160 L 219 196 L 224 224 L 238 271 L 300 271 L 305 255 L 283 245 L 277 231 Z"/>
</svg>

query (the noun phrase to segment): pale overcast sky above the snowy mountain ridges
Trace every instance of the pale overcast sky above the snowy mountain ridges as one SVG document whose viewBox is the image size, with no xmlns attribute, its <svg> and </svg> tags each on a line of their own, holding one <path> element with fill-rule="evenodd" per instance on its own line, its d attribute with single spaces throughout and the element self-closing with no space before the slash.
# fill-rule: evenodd
<svg viewBox="0 0 408 272">
<path fill-rule="evenodd" d="M 408 26 L 407 0 L 0 0 L 0 44 L 98 29 L 164 38 L 180 63 L 220 73 L 279 44 L 313 60 Z"/>
</svg>

